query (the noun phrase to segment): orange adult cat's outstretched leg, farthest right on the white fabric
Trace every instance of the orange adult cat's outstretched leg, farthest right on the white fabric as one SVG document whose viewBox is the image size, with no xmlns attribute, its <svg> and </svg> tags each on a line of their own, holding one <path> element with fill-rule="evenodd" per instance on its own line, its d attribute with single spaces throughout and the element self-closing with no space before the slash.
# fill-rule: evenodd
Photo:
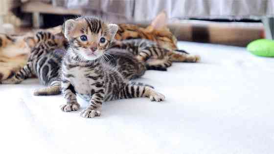
<svg viewBox="0 0 274 154">
<path fill-rule="evenodd" d="M 173 50 L 169 54 L 172 62 L 198 63 L 201 60 L 199 55 L 191 55 L 184 50 Z"/>
</svg>

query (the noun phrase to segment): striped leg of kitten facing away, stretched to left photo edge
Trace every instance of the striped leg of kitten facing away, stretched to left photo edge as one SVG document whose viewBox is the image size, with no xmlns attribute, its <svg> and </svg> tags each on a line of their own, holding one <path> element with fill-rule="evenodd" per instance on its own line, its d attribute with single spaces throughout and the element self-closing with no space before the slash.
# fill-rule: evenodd
<svg viewBox="0 0 274 154">
<path fill-rule="evenodd" d="M 19 84 L 31 75 L 32 65 L 28 62 L 16 74 L 11 73 L 7 79 L 0 81 L 0 84 Z"/>
</svg>

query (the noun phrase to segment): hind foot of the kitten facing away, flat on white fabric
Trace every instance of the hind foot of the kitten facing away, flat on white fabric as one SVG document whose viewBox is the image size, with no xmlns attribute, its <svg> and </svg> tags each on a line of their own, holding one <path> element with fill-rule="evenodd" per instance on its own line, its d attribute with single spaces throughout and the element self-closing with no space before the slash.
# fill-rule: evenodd
<svg viewBox="0 0 274 154">
<path fill-rule="evenodd" d="M 46 88 L 37 89 L 33 94 L 36 96 L 59 95 L 61 94 L 61 86 L 49 86 Z"/>
</svg>

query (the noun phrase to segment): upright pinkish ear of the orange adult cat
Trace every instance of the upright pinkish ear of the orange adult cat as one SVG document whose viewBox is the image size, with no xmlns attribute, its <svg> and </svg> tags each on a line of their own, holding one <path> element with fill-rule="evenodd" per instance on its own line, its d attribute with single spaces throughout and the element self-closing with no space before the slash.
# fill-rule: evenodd
<svg viewBox="0 0 274 154">
<path fill-rule="evenodd" d="M 153 29 L 160 29 L 167 26 L 167 15 L 165 11 L 160 12 L 159 15 L 150 24 Z"/>
</svg>

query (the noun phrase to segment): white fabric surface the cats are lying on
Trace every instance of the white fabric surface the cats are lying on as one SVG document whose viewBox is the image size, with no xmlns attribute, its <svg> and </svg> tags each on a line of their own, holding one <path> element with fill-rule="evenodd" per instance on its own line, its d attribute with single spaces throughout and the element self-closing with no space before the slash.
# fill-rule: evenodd
<svg viewBox="0 0 274 154">
<path fill-rule="evenodd" d="M 245 48 L 180 42 L 199 64 L 147 71 L 138 81 L 165 94 L 106 102 L 91 119 L 33 96 L 37 79 L 0 85 L 2 154 L 273 154 L 274 59 Z M 81 102 L 81 110 L 87 103 Z"/>
</svg>

